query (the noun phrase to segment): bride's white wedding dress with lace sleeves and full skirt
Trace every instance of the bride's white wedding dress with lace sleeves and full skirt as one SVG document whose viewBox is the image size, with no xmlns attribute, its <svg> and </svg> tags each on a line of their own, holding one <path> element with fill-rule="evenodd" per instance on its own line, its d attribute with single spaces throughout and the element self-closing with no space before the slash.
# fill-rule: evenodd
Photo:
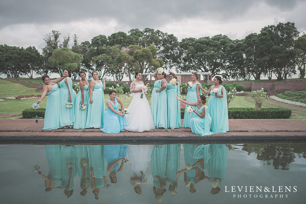
<svg viewBox="0 0 306 204">
<path fill-rule="evenodd" d="M 140 90 L 141 86 L 144 85 L 142 81 L 131 83 L 130 91 Z M 133 132 L 143 132 L 151 129 L 155 129 L 153 117 L 151 113 L 151 107 L 146 99 L 146 95 L 143 95 L 141 99 L 140 93 L 131 93 L 133 95 L 133 100 L 129 105 L 129 114 L 126 114 L 127 126 L 124 128 Z"/>
</svg>

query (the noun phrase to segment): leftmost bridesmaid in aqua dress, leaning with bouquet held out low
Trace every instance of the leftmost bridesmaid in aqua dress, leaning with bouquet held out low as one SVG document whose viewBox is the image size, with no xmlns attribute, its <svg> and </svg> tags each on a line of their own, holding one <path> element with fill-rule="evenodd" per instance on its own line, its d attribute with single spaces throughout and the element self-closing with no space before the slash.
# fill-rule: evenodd
<svg viewBox="0 0 306 204">
<path fill-rule="evenodd" d="M 42 76 L 44 85 L 42 87 L 42 96 L 37 101 L 37 104 L 40 104 L 45 96 L 48 95 L 43 129 L 54 130 L 62 127 L 60 125 L 60 109 L 57 102 L 60 98 L 60 89 L 57 82 L 62 79 L 64 77 L 50 80 L 48 75 Z"/>
</svg>

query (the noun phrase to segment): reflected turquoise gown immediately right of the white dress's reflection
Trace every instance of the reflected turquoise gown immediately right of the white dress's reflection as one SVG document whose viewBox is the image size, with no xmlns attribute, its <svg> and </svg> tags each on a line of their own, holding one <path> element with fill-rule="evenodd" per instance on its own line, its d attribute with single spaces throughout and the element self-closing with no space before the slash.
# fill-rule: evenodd
<svg viewBox="0 0 306 204">
<path fill-rule="evenodd" d="M 160 188 L 160 182 L 155 176 L 159 176 L 161 180 L 167 184 L 165 178 L 166 162 L 167 162 L 167 145 L 155 145 L 151 155 L 151 173 L 153 184 L 156 188 Z"/>
</svg>

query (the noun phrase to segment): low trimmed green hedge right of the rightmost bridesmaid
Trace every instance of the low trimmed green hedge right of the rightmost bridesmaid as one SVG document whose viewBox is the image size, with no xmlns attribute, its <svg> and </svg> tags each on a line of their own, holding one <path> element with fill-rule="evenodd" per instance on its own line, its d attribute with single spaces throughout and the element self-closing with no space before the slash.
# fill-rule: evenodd
<svg viewBox="0 0 306 204">
<path fill-rule="evenodd" d="M 292 111 L 285 108 L 229 108 L 229 119 L 288 119 Z"/>
</svg>

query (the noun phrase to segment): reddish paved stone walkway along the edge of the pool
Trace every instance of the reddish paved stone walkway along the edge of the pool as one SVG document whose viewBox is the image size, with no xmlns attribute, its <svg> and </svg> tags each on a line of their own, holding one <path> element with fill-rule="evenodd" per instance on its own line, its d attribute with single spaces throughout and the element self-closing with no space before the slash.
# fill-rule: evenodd
<svg viewBox="0 0 306 204">
<path fill-rule="evenodd" d="M 183 121 L 183 120 L 182 120 Z M 230 131 L 225 134 L 200 136 L 190 128 L 153 129 L 143 133 L 123 131 L 107 134 L 100 129 L 57 129 L 44 130 L 43 119 L 2 119 L 0 120 L 1 141 L 28 140 L 306 140 L 306 120 L 230 120 Z"/>
</svg>

